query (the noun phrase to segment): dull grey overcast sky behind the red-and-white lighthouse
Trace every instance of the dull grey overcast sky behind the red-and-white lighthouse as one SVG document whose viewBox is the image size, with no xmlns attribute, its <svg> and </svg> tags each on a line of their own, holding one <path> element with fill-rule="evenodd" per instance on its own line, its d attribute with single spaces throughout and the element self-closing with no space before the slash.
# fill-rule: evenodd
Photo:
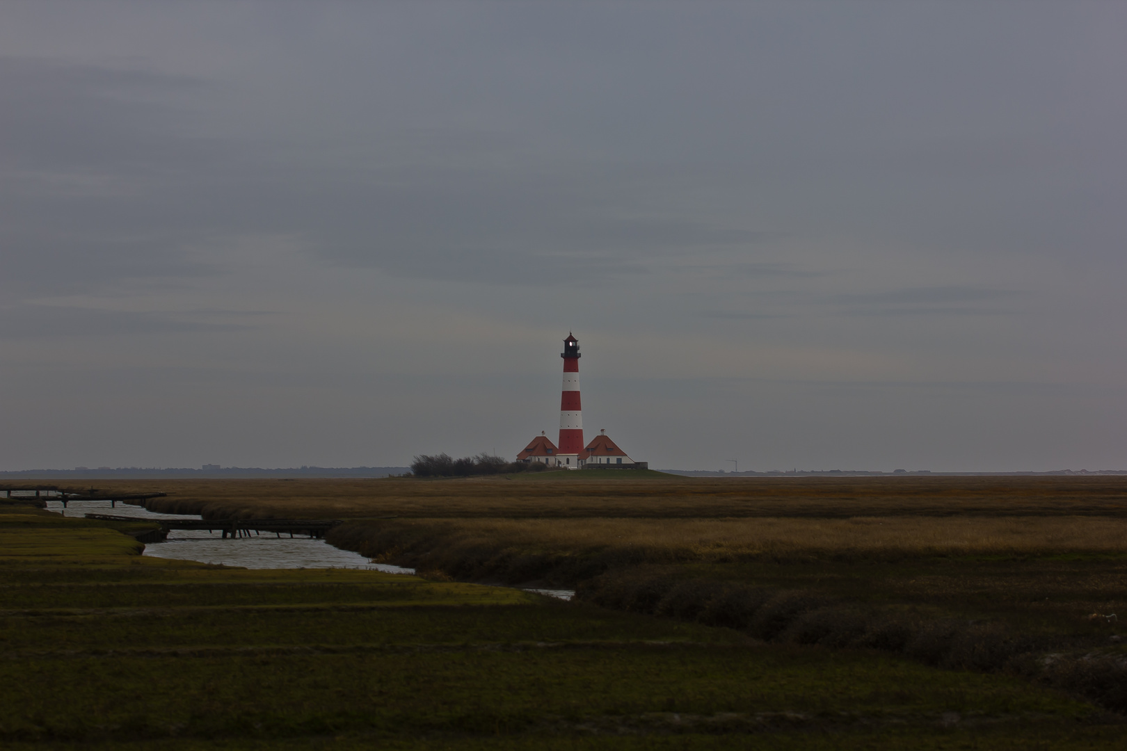
<svg viewBox="0 0 1127 751">
<path fill-rule="evenodd" d="M 0 6 L 0 470 L 1127 468 L 1127 5 Z"/>
</svg>

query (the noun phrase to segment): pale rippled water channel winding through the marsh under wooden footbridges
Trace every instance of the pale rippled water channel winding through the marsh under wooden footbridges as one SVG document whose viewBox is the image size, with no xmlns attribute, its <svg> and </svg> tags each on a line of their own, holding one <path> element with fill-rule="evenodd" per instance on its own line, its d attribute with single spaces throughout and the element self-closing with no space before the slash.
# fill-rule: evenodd
<svg viewBox="0 0 1127 751">
<path fill-rule="evenodd" d="M 46 499 L 47 509 L 68 517 L 82 518 L 87 513 L 112 513 L 119 517 L 136 519 L 193 519 L 199 516 L 157 513 L 140 506 L 131 506 L 118 501 L 70 501 L 69 508 L 63 508 L 62 501 Z M 206 529 L 172 529 L 163 543 L 149 543 L 144 546 L 144 555 L 158 558 L 180 558 L 199 561 L 202 563 L 221 563 L 228 566 L 243 569 L 367 569 L 393 574 L 412 574 L 415 569 L 393 566 L 388 563 L 373 563 L 360 553 L 334 547 L 323 539 L 307 537 L 276 537 L 274 535 L 255 535 L 238 539 L 223 539 L 220 530 L 208 533 Z M 529 589 L 530 592 L 548 594 L 564 600 L 570 600 L 575 594 L 571 590 Z"/>
</svg>

